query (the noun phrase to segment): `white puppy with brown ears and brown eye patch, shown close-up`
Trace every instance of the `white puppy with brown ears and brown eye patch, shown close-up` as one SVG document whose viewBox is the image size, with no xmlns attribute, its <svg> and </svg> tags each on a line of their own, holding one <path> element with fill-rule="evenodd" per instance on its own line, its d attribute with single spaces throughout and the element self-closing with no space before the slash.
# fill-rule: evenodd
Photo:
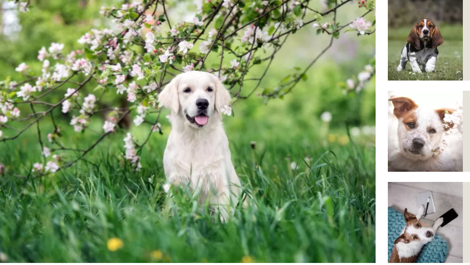
<svg viewBox="0 0 470 265">
<path fill-rule="evenodd" d="M 408 97 L 388 100 L 396 118 L 389 117 L 388 171 L 463 171 L 462 157 L 456 151 L 459 142 L 454 136 L 446 136 L 446 143 L 442 142 L 444 117 L 454 109 L 419 107 Z"/>
</svg>

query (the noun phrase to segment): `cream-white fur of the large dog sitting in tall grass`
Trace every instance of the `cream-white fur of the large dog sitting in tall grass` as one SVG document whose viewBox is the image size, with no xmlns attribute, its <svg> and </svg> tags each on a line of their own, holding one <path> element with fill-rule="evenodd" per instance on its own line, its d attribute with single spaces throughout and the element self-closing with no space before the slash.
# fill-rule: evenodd
<svg viewBox="0 0 470 265">
<path fill-rule="evenodd" d="M 191 92 L 184 92 L 186 88 Z M 186 117 L 199 114 L 199 98 L 209 101 L 204 126 Z M 165 190 L 168 192 L 169 184 L 188 187 L 199 196 L 201 205 L 208 201 L 211 207 L 218 208 L 224 220 L 229 218 L 230 205 L 236 205 L 241 191 L 220 114 L 230 99 L 230 93 L 215 75 L 200 71 L 177 75 L 159 95 L 160 103 L 171 110 L 171 133 L 163 156 Z"/>
</svg>

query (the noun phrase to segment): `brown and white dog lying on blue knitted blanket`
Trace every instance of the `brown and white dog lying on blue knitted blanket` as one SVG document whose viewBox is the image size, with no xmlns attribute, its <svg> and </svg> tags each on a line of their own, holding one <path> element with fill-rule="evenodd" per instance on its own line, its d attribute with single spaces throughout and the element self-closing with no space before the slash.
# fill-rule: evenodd
<svg viewBox="0 0 470 265">
<path fill-rule="evenodd" d="M 388 263 L 411 263 L 416 262 L 416 259 L 421 252 L 421 249 L 427 243 L 434 239 L 437 228 L 442 225 L 442 217 L 438 218 L 432 227 L 427 226 L 425 223 L 419 221 L 423 216 L 424 207 L 421 205 L 416 215 L 408 212 L 405 208 L 405 221 L 406 226 L 402 230 L 402 234 L 395 240 L 392 254 Z"/>
</svg>

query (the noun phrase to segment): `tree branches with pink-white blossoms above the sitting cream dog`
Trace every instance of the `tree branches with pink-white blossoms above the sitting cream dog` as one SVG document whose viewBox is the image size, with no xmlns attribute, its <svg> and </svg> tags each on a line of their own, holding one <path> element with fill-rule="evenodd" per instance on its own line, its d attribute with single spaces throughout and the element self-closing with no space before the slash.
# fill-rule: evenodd
<svg viewBox="0 0 470 265">
<path fill-rule="evenodd" d="M 200 0 L 194 1 L 197 13 L 192 21 L 183 22 L 168 16 L 167 2 L 140 0 L 120 7 L 102 7 L 100 13 L 112 20 L 113 29 L 90 30 L 78 40 L 83 44 L 79 50 L 67 51 L 61 43 L 42 47 L 37 57 L 42 62 L 41 74 L 34 74 L 27 64 L 21 63 L 15 70 L 22 73 L 23 80 L 7 78 L 0 82 L 0 142 L 15 140 L 30 128 L 37 129 L 42 160 L 30 167 L 30 175 L 39 177 L 70 167 L 118 130 L 117 125 L 128 115 L 134 117 L 135 126 L 151 124 L 144 143 L 139 145 L 130 133 L 123 139 L 123 160 L 139 170 L 142 147 L 154 131 L 161 134 L 158 93 L 180 72 L 202 70 L 215 74 L 233 96 L 230 105 L 220 111 L 232 115 L 235 100 L 248 98 L 258 90 L 261 91 L 257 95 L 266 99 L 291 92 L 297 83 L 307 79 L 306 72 L 340 37 L 341 31 L 355 31 L 358 36 L 375 32 L 370 30 L 375 20 L 364 17 L 371 12 L 375 16 L 373 1 L 356 4 L 352 0 L 327 0 L 323 1 L 324 10 L 315 10 L 309 7 L 309 1 Z M 29 1 L 15 3 L 21 12 L 34 12 Z M 337 11 L 351 4 L 363 10 L 363 15 L 354 21 L 340 21 Z M 307 15 L 314 18 L 307 20 Z M 328 44 L 307 67 L 296 67 L 281 78 L 278 87 L 259 89 L 286 40 L 307 26 L 315 28 L 317 35 L 330 35 Z M 217 63 L 208 65 L 209 57 Z M 262 74 L 245 78 L 255 67 L 262 67 Z M 375 64 L 368 65 L 357 78 L 345 83 L 345 89 L 360 91 L 374 73 Z M 86 85 L 96 88 L 84 93 Z M 53 102 L 52 93 L 63 96 Z M 110 93 L 126 95 L 127 105 L 102 108 L 105 104 L 101 102 Z M 70 115 L 70 126 L 77 133 L 92 130 L 89 124 L 97 114 L 107 115 L 103 130 L 95 131 L 96 141 L 82 150 L 62 143 L 63 131 L 54 119 L 57 112 Z M 157 119 L 146 119 L 150 113 L 157 113 Z M 45 119 L 51 120 L 53 131 L 40 129 L 39 124 Z M 78 155 L 64 161 L 64 151 Z"/>
</svg>

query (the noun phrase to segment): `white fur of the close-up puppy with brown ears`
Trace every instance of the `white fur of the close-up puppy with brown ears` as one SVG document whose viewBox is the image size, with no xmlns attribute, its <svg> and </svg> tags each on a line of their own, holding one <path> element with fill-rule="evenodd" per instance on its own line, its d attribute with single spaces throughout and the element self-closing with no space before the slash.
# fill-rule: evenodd
<svg viewBox="0 0 470 265">
<path fill-rule="evenodd" d="M 432 108 L 419 106 L 412 112 L 417 118 L 417 126 L 407 130 L 404 121 L 393 115 L 393 107 L 389 109 L 388 171 L 463 171 L 462 135 L 444 134 L 442 121 Z M 436 130 L 433 137 L 427 131 L 430 127 Z M 425 140 L 419 153 L 411 152 L 415 138 Z M 447 146 L 441 146 L 442 139 Z M 438 147 L 444 151 L 435 155 L 431 150 Z"/>
</svg>

